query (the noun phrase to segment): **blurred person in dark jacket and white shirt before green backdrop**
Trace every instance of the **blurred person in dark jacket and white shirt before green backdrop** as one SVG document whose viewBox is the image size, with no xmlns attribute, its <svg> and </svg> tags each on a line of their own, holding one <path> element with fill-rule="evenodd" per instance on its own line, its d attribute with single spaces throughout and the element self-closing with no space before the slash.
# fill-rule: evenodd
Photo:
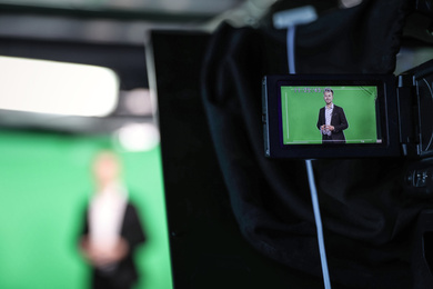
<svg viewBox="0 0 433 289">
<path fill-rule="evenodd" d="M 121 181 L 118 156 L 100 151 L 92 172 L 95 188 L 79 242 L 81 253 L 93 268 L 92 288 L 132 288 L 139 278 L 133 253 L 145 241 L 145 235 Z"/>
</svg>

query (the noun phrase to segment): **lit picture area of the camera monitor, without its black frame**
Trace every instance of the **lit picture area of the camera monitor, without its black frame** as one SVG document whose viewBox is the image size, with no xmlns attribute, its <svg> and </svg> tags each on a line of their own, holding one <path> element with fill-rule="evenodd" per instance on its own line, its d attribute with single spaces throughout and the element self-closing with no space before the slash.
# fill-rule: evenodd
<svg viewBox="0 0 433 289">
<path fill-rule="evenodd" d="M 381 143 L 379 108 L 376 86 L 281 86 L 282 142 Z"/>
</svg>

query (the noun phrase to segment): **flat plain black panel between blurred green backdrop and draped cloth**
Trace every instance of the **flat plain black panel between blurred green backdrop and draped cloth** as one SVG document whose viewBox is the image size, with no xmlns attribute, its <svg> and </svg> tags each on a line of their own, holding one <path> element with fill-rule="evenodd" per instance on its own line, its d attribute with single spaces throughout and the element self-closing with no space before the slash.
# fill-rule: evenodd
<svg viewBox="0 0 433 289">
<path fill-rule="evenodd" d="M 174 288 L 323 288 L 261 256 L 238 228 L 200 96 L 209 36 L 151 38 Z"/>
</svg>

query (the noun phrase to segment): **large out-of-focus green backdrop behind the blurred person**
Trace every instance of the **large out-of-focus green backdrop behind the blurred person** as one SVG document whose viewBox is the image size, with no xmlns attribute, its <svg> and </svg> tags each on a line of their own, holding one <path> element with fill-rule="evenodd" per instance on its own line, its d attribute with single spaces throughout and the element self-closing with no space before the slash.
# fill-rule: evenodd
<svg viewBox="0 0 433 289">
<path fill-rule="evenodd" d="M 0 288 L 88 288 L 78 233 L 90 160 L 110 138 L 0 131 Z M 137 288 L 172 288 L 160 149 L 120 156 L 149 238 L 135 256 Z"/>
</svg>

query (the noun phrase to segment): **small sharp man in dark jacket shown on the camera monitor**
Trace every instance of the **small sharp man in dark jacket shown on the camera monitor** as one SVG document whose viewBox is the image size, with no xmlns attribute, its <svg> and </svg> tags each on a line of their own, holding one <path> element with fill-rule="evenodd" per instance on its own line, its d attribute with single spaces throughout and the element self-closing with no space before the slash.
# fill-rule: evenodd
<svg viewBox="0 0 433 289">
<path fill-rule="evenodd" d="M 345 143 L 344 132 L 349 124 L 341 107 L 335 106 L 334 91 L 325 88 L 323 92 L 325 106 L 319 111 L 318 129 L 322 133 L 322 143 Z"/>
</svg>

